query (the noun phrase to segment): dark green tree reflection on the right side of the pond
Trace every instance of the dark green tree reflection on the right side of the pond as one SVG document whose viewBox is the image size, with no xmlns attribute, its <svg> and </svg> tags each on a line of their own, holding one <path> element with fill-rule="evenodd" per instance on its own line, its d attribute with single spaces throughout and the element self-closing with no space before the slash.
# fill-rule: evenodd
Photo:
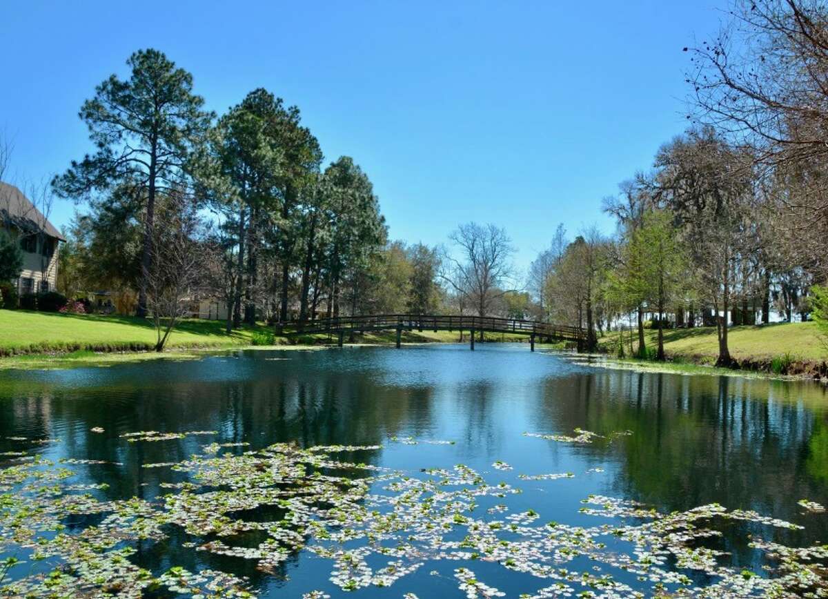
<svg viewBox="0 0 828 599">
<path fill-rule="evenodd" d="M 722 546 L 750 563 L 748 533 L 794 544 L 828 535 L 824 519 L 802 519 L 796 504 L 828 500 L 825 399 L 816 385 L 606 370 L 548 380 L 542 409 L 565 430 L 633 431 L 585 450 L 617 456 L 619 495 L 662 511 L 718 502 L 806 526 L 734 525 Z"/>
</svg>

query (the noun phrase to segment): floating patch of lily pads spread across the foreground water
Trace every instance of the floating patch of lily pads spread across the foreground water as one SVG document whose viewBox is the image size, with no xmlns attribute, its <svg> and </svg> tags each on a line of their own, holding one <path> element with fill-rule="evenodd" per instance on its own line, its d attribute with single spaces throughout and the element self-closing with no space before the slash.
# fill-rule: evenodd
<svg viewBox="0 0 828 599">
<path fill-rule="evenodd" d="M 207 433 L 212 434 L 186 434 Z M 185 433 L 141 432 L 122 436 L 122 442 L 168 434 Z M 99 461 L 60 463 L 34 455 L 6 462 L 0 469 L 0 564 L 18 561 L 5 570 L 0 565 L 0 595 L 246 597 L 254 592 L 248 579 L 233 572 L 178 566 L 152 572 L 133 562 L 138 543 L 166 543 L 171 531 L 181 531 L 189 535 L 185 548 L 193 553 L 246 560 L 263 574 L 277 572 L 297 553 L 315 556 L 342 591 L 389 587 L 426 564 L 445 564 L 433 572 L 467 597 L 501 597 L 498 587 L 513 575 L 520 575 L 522 584 L 536 581 L 526 583 L 526 597 L 828 596 L 824 546 L 792 548 L 751 539 L 768 564 L 760 575 L 730 567 L 727 553 L 705 546 L 720 536 L 717 525 L 729 521 L 766 527 L 768 533 L 802 528 L 798 524 L 717 504 L 663 514 L 604 495 L 590 495 L 580 509 L 596 524 L 559 524 L 544 519 L 540 506 L 513 510 L 510 503 L 520 489 L 488 481 L 463 464 L 412 473 L 335 457 L 378 448 L 277 443 L 251 450 L 243 442 L 214 442 L 184 461 L 144 464 L 185 479 L 163 483 L 164 494 L 151 500 L 103 500 L 100 485 L 73 482 L 75 472 L 67 466 L 94 467 Z M 498 470 L 508 466 L 496 463 Z M 67 527 L 68 518 L 82 515 L 94 518 Z M 253 532 L 254 543 L 244 543 Z M 497 578 L 475 563 L 497 568 Z M 703 575 L 705 584 L 694 582 L 701 579 L 696 575 Z M 306 597 L 325 592 L 306 589 Z"/>
</svg>

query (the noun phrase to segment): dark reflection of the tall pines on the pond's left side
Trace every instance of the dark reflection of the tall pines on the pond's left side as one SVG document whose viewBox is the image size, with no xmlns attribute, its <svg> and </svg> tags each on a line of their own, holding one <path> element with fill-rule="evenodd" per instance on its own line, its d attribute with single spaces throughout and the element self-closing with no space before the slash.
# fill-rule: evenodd
<svg viewBox="0 0 828 599">
<path fill-rule="evenodd" d="M 217 378 L 217 371 L 225 376 Z M 304 356 L 284 362 L 203 360 L 178 368 L 157 363 L 97 369 L 93 374 L 82 385 L 44 384 L 24 375 L 0 386 L 0 447 L 20 448 L 3 437 L 54 437 L 61 441 L 58 456 L 121 462 L 123 466 L 72 466 L 89 481 L 107 483 L 105 493 L 112 499 L 151 498 L 162 491 L 160 482 L 182 481 L 169 468 L 142 464 L 183 461 L 214 440 L 251 443 L 223 452 L 273 442 L 379 445 L 410 422 L 412 414 L 421 423 L 432 418 L 431 387 L 378 386 L 370 370 L 325 368 L 324 360 Z M 90 432 L 93 427 L 105 432 Z M 125 432 L 194 430 L 219 435 L 132 443 L 118 437 Z M 376 462 L 378 452 L 341 457 Z"/>
</svg>

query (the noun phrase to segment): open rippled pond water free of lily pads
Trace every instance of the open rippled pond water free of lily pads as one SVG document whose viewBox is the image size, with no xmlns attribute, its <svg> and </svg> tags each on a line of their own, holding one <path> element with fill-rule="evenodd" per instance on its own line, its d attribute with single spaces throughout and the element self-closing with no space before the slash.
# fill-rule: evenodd
<svg viewBox="0 0 828 599">
<path fill-rule="evenodd" d="M 151 462 L 181 461 L 209 442 L 266 447 L 382 445 L 359 461 L 418 472 L 463 463 L 493 481 L 520 487 L 513 510 L 537 510 L 544 521 L 583 526 L 590 494 L 639 500 L 658 510 L 719 502 L 806 527 L 763 529 L 784 543 L 828 541 L 828 516 L 803 514 L 797 500 L 828 505 L 828 394 L 815 384 L 676 374 L 640 374 L 575 365 L 527 345 L 431 345 L 403 350 L 250 351 L 196 361 L 158 361 L 78 370 L 0 373 L 0 452 L 22 448 L 6 437 L 58 439 L 43 456 L 117 461 L 72 466 L 72 482 L 107 483 L 100 498 L 152 499 L 161 482 L 181 481 Z M 103 433 L 90 432 L 100 427 Z M 574 428 L 632 434 L 612 442 L 572 444 L 523 432 L 572 434 Z M 126 432 L 214 430 L 209 437 L 126 442 Z M 452 441 L 391 442 L 389 437 Z M 497 471 L 493 461 L 511 471 Z M 551 481 L 520 474 L 571 472 Z M 757 570 L 747 544 L 756 524 L 731 524 L 717 543 L 731 563 Z M 2 557 L 2 556 L 0 556 Z M 220 558 L 167 543 L 142 547 L 137 563 L 160 572 L 171 565 L 222 568 L 251 578 L 262 595 L 300 597 L 328 581 L 330 563 L 297 553 L 276 575 L 249 561 Z M 451 576 L 458 563 L 433 563 L 389 589 L 359 595 L 462 597 Z M 509 597 L 548 582 L 476 562 L 474 572 Z M 431 575 L 431 570 L 442 575 Z M 282 595 L 284 593 L 284 595 Z"/>
</svg>

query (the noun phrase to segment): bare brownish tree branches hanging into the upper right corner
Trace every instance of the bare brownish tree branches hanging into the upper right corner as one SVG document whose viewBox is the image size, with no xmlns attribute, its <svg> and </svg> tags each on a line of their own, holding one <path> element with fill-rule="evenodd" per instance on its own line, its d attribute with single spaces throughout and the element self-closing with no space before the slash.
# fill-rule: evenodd
<svg viewBox="0 0 828 599">
<path fill-rule="evenodd" d="M 797 261 L 828 279 L 828 6 L 735 0 L 732 15 L 692 49 L 695 116 L 752 149 Z"/>
</svg>

